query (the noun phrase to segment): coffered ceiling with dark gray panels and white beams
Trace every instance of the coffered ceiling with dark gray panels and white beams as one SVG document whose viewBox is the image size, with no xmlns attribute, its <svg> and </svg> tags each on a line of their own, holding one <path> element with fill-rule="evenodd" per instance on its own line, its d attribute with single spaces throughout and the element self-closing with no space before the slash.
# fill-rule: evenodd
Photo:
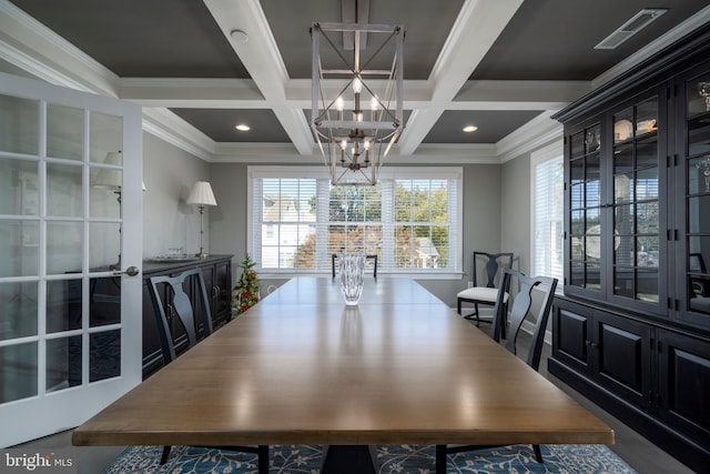
<svg viewBox="0 0 710 474">
<path fill-rule="evenodd" d="M 710 21 L 706 0 L 0 0 L 0 71 L 141 103 L 149 131 L 206 160 L 315 158 L 308 29 L 355 3 L 404 24 L 394 155 L 429 159 L 559 133 L 554 111 Z M 594 48 L 651 7 L 667 11 Z"/>
</svg>

